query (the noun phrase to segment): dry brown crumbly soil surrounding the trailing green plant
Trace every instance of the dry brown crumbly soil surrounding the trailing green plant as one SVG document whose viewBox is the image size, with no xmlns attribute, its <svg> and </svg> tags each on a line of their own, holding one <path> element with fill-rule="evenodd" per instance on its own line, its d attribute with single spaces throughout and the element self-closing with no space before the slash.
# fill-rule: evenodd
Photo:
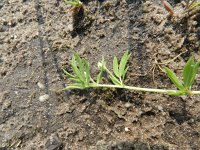
<svg viewBox="0 0 200 150">
<path fill-rule="evenodd" d="M 200 11 L 169 1 L 84 0 L 73 16 L 60 0 L 0 1 L 0 147 L 20 150 L 199 150 L 200 96 L 114 89 L 58 92 L 74 52 L 96 75 L 102 56 L 131 53 L 126 83 L 175 88 L 158 67 L 181 76 L 200 58 Z M 73 19 L 74 17 L 74 19 Z M 181 55 L 179 55 L 181 54 Z M 178 57 L 176 57 L 179 55 Z M 194 89 L 200 90 L 200 76 Z"/>
</svg>

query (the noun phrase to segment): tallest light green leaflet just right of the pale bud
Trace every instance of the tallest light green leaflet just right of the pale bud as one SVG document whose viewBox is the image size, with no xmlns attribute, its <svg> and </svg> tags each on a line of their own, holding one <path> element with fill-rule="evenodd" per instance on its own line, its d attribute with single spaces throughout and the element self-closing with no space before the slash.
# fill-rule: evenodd
<svg viewBox="0 0 200 150">
<path fill-rule="evenodd" d="M 121 61 L 120 61 L 120 64 L 119 64 L 119 75 L 120 75 L 120 77 L 122 77 L 122 75 L 125 72 L 126 64 L 128 62 L 128 59 L 130 58 L 130 55 L 131 54 L 129 54 L 129 52 L 126 51 L 121 58 Z"/>
</svg>

